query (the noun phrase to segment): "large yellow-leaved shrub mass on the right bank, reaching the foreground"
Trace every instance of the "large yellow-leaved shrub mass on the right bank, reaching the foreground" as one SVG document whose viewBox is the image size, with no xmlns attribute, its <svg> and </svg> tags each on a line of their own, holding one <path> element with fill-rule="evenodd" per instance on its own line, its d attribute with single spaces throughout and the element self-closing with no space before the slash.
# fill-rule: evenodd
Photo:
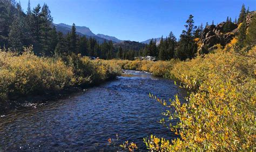
<svg viewBox="0 0 256 152">
<path fill-rule="evenodd" d="M 174 65 L 170 74 L 196 91 L 186 103 L 177 96 L 169 102 L 150 95 L 170 108 L 160 122 L 180 137 L 169 141 L 151 136 L 144 139 L 147 148 L 255 151 L 255 51 L 254 47 L 247 56 L 217 51 Z M 172 124 L 173 120 L 178 122 Z"/>
</svg>

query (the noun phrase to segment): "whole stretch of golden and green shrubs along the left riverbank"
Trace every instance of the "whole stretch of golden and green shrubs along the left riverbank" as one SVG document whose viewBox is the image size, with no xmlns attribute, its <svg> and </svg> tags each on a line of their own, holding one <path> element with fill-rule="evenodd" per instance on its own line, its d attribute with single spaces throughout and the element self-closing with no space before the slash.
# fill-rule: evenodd
<svg viewBox="0 0 256 152">
<path fill-rule="evenodd" d="M 0 51 L 0 99 L 99 83 L 121 72 L 116 64 L 79 55 L 37 57 L 32 53 L 32 47 L 25 48 L 22 54 Z"/>
</svg>

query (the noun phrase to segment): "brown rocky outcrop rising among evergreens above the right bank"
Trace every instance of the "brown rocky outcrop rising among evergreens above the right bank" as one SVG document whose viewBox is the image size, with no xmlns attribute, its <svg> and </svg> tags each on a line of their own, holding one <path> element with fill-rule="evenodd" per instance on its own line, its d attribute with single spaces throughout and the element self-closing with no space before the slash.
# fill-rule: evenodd
<svg viewBox="0 0 256 152">
<path fill-rule="evenodd" d="M 246 17 L 247 26 L 251 23 L 255 11 L 250 12 Z M 239 31 L 239 25 L 230 22 L 229 31 L 225 31 L 224 27 L 228 24 L 227 22 L 222 22 L 215 25 L 206 26 L 202 37 L 201 37 L 201 47 L 199 50 L 208 49 L 212 50 L 215 44 L 220 44 L 221 46 L 225 46 L 230 43 L 231 40 L 237 35 Z"/>
</svg>

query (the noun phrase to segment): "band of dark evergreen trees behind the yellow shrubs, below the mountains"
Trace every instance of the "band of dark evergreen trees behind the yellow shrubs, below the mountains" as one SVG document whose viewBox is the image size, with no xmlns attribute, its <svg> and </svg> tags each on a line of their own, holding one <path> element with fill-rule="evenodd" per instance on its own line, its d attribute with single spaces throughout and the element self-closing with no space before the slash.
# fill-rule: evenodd
<svg viewBox="0 0 256 152">
<path fill-rule="evenodd" d="M 38 56 L 66 56 L 69 54 L 81 54 L 82 56 L 99 57 L 101 59 L 129 59 L 134 57 L 153 56 L 159 60 L 170 60 L 177 58 L 180 60 L 191 59 L 197 55 L 198 45 L 205 27 L 194 25 L 193 16 L 186 20 L 185 30 L 182 31 L 179 40 L 170 32 L 166 38 L 161 37 L 159 44 L 156 40 L 151 40 L 143 49 L 139 51 L 114 47 L 111 40 L 105 40 L 100 44 L 93 37 L 80 36 L 76 33 L 76 25 L 73 24 L 71 31 L 64 35 L 57 32 L 52 24 L 53 18 L 49 6 L 38 4 L 31 8 L 30 1 L 24 13 L 21 4 L 15 0 L 0 0 L 0 43 L 1 49 L 9 48 L 17 52 L 23 51 L 23 46 L 33 45 L 33 51 Z M 238 41 L 240 46 L 244 46 L 246 40 L 246 16 L 249 9 L 242 5 L 238 20 L 235 24 L 240 24 Z M 229 31 L 231 18 L 227 17 L 224 31 Z M 214 22 L 212 21 L 212 25 Z M 251 29 L 253 32 L 253 29 Z M 252 33 L 251 32 L 251 33 Z M 248 34 L 250 36 L 250 34 Z M 250 36 L 251 40 L 254 39 Z M 248 38 L 247 38 L 248 39 Z M 200 52 L 207 53 L 207 52 Z"/>
</svg>

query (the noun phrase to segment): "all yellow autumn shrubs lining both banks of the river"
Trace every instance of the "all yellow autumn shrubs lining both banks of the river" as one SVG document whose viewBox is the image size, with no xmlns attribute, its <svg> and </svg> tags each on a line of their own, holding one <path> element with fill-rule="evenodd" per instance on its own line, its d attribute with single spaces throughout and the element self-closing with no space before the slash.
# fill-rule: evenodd
<svg viewBox="0 0 256 152">
<path fill-rule="evenodd" d="M 217 49 L 188 61 L 90 60 L 79 54 L 62 58 L 38 57 L 32 47 L 22 54 L 0 52 L 0 97 L 60 91 L 75 86 L 99 84 L 127 70 L 142 70 L 167 79 L 177 79 L 192 93 L 180 103 L 164 101 L 150 94 L 167 110 L 160 120 L 180 135 L 176 140 L 151 136 L 144 139 L 150 150 L 226 149 L 255 147 L 256 47 L 240 54 L 233 47 Z M 172 124 L 178 119 L 177 124 Z"/>
</svg>

